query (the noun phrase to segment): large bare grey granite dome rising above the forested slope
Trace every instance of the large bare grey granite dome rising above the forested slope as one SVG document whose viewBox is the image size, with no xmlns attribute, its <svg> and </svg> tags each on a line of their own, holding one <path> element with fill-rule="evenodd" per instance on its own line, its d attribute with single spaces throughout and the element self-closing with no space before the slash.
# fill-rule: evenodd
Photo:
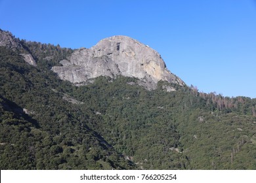
<svg viewBox="0 0 256 183">
<path fill-rule="evenodd" d="M 139 84 L 148 90 L 156 88 L 160 80 L 184 85 L 184 82 L 165 67 L 160 54 L 145 44 L 126 36 L 103 39 L 89 49 L 76 50 L 70 61 L 60 61 L 62 67 L 53 67 L 62 80 L 79 84 L 97 76 L 112 78 L 122 75 L 139 78 Z"/>
</svg>

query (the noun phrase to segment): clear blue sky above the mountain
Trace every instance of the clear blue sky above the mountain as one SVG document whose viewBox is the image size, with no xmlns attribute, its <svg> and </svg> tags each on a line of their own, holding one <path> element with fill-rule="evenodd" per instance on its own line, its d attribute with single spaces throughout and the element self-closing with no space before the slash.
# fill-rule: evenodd
<svg viewBox="0 0 256 183">
<path fill-rule="evenodd" d="M 157 50 L 188 86 L 256 97 L 254 0 L 0 0 L 0 28 L 69 48 L 127 35 Z"/>
</svg>

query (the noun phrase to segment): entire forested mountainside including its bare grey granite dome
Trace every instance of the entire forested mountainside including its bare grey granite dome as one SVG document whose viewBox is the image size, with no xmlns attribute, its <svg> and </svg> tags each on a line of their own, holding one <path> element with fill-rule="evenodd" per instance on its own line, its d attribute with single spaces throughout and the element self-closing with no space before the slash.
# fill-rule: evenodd
<svg viewBox="0 0 256 183">
<path fill-rule="evenodd" d="M 129 37 L 72 50 L 0 30 L 1 169 L 256 169 L 255 110 Z"/>
</svg>

